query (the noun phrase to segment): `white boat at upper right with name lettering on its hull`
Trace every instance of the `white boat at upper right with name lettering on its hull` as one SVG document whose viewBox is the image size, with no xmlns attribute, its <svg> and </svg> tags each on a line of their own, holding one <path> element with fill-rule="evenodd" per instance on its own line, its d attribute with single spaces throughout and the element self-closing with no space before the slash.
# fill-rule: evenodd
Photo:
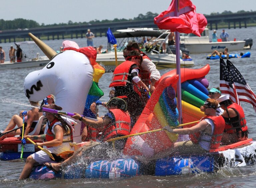
<svg viewBox="0 0 256 188">
<path fill-rule="evenodd" d="M 227 47 L 229 51 L 242 50 L 245 46 L 245 41 L 228 41 L 228 42 L 210 42 L 209 29 L 205 28 L 201 37 L 192 33 L 180 36 L 180 42 L 185 44 L 190 53 L 211 53 L 214 50 L 224 51 Z"/>
</svg>

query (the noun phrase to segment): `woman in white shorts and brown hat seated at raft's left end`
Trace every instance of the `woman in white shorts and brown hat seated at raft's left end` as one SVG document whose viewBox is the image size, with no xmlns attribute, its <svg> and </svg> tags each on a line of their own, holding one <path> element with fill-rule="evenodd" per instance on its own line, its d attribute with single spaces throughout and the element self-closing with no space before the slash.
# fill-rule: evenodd
<svg viewBox="0 0 256 188">
<path fill-rule="evenodd" d="M 44 105 L 43 107 L 55 110 L 62 110 L 61 107 L 55 104 Z M 50 125 L 45 135 L 25 136 L 24 138 L 44 141 L 42 143 L 36 143 L 35 146 L 47 146 L 47 149 L 53 154 L 58 154 L 66 150 L 74 150 L 70 146 L 70 142 L 72 142 L 72 129 L 68 125 L 73 120 L 66 117 L 63 118 L 58 114 L 52 114 L 49 112 L 46 112 L 46 118 L 48 119 Z M 74 124 L 74 121 L 72 122 L 72 124 Z M 28 178 L 34 165 L 43 164 L 48 161 L 52 161 L 52 159 L 42 150 L 33 153 L 32 155 L 29 155 L 19 179 Z"/>
</svg>

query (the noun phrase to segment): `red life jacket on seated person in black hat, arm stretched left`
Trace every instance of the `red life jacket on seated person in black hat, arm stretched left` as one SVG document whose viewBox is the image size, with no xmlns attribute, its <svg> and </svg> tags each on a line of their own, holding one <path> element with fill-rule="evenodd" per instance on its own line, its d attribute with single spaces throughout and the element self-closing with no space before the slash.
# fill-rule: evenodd
<svg viewBox="0 0 256 188">
<path fill-rule="evenodd" d="M 115 122 L 104 126 L 102 131 L 101 140 L 107 141 L 108 139 L 115 138 L 116 136 L 126 136 L 131 132 L 131 119 L 127 112 L 120 109 L 111 109 L 115 118 Z"/>
</svg>

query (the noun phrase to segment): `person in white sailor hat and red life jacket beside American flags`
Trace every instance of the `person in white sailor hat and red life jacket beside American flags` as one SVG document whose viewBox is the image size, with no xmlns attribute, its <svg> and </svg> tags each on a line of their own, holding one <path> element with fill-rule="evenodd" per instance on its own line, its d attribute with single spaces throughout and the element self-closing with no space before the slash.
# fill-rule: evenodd
<svg viewBox="0 0 256 188">
<path fill-rule="evenodd" d="M 232 144 L 248 138 L 248 127 L 246 125 L 243 108 L 233 103 L 229 95 L 221 95 L 217 99 L 224 110 L 222 116 L 225 120 L 225 130 L 222 141 L 225 144 Z"/>
</svg>

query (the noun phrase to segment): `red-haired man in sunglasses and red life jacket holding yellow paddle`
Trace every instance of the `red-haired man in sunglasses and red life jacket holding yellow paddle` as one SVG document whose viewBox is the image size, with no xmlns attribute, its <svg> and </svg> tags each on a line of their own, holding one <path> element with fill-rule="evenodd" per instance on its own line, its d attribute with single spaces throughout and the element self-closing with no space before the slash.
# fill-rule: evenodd
<svg viewBox="0 0 256 188">
<path fill-rule="evenodd" d="M 164 127 L 164 130 L 181 135 L 190 135 L 190 141 L 175 142 L 173 148 L 170 148 L 166 154 L 173 152 L 180 153 L 205 153 L 209 149 L 215 149 L 220 146 L 222 133 L 225 127 L 225 121 L 222 116 L 216 115 L 218 102 L 215 99 L 206 99 L 203 107 L 205 109 L 203 117 L 200 122 L 190 128 L 172 129 L 169 126 Z"/>
</svg>

